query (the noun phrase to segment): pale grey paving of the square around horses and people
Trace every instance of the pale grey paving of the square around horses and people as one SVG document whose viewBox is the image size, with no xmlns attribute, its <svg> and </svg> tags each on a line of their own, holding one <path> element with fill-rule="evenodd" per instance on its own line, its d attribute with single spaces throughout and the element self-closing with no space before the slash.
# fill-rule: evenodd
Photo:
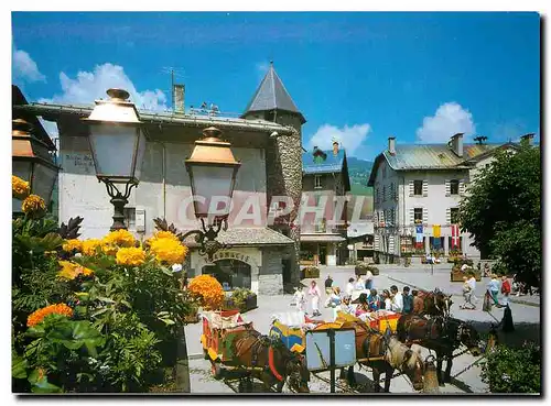
<svg viewBox="0 0 551 406">
<path fill-rule="evenodd" d="M 424 265 L 426 266 L 426 265 Z M 377 289 L 389 288 L 390 285 L 397 285 L 401 288 L 404 285 L 419 286 L 426 289 L 433 289 L 434 287 L 440 287 L 446 293 L 454 295 L 461 294 L 461 283 L 451 283 L 449 270 L 450 266 L 435 267 L 434 275 L 431 275 L 430 268 L 425 270 L 421 266 L 412 266 L 410 268 L 393 268 L 389 265 L 380 266 L 380 275 L 375 278 L 375 287 Z M 317 279 L 322 287 L 322 300 L 321 300 L 321 311 L 322 316 L 320 319 L 331 320 L 332 310 L 323 308 L 323 301 L 325 299 L 325 293 L 323 289 L 323 281 L 331 274 L 334 279 L 334 286 L 341 286 L 344 288 L 349 277 L 354 277 L 354 267 L 339 266 L 339 267 L 322 267 L 321 275 Z M 400 282 L 398 282 L 400 281 Z M 497 323 L 503 318 L 503 309 L 494 308 L 491 316 L 487 312 L 482 311 L 482 293 L 484 293 L 484 287 L 486 283 L 478 283 L 477 296 L 478 296 L 478 309 L 477 310 L 461 310 L 458 305 L 462 301 L 461 296 L 454 296 L 454 305 L 452 306 L 452 312 L 454 317 L 463 320 L 469 320 L 476 327 L 478 331 L 483 334 L 489 331 L 490 323 Z M 310 284 L 310 279 L 302 281 L 304 285 Z M 479 292 L 480 289 L 480 292 Z M 256 330 L 267 334 L 270 330 L 271 315 L 281 311 L 293 311 L 294 307 L 290 306 L 292 301 L 292 295 L 278 295 L 278 296 L 259 296 L 258 305 L 259 307 L 255 310 L 248 311 L 244 315 L 245 319 L 252 321 Z M 515 327 L 517 331 L 512 334 L 499 333 L 499 339 L 503 342 L 510 344 L 520 344 L 525 339 L 539 340 L 540 334 L 540 308 L 534 306 L 526 306 L 522 304 L 514 303 L 510 305 L 512 310 L 512 317 L 515 320 Z M 307 311 L 311 312 L 311 306 L 309 304 Z M 190 354 L 190 363 L 192 369 L 192 393 L 204 393 L 204 394 L 216 394 L 216 393 L 235 393 L 237 391 L 237 382 L 216 381 L 210 374 L 210 364 L 208 361 L 203 360 L 202 345 L 199 338 L 202 334 L 202 325 L 188 325 L 186 326 L 186 339 L 187 339 L 187 351 Z M 423 355 L 428 355 L 429 351 L 423 350 Z M 477 359 L 471 354 L 463 354 L 454 360 L 452 367 L 452 376 L 461 373 L 456 378 L 452 381 L 452 384 L 446 384 L 445 387 L 441 387 L 441 393 L 485 393 L 487 392 L 487 385 L 480 380 L 480 366 L 475 365 L 463 372 L 466 367 L 473 364 Z M 356 377 L 358 383 L 365 384 L 363 392 L 371 392 L 370 380 L 372 378 L 370 370 L 359 370 L 355 366 Z M 311 393 L 329 393 L 328 384 L 329 373 L 325 372 L 320 374 L 320 377 L 313 376 L 310 383 Z M 261 385 L 257 382 L 255 385 L 255 392 L 262 392 Z M 283 388 L 283 393 L 289 393 L 289 388 Z M 339 382 L 337 385 L 337 392 L 348 392 L 347 385 Z M 391 381 L 390 386 L 391 393 L 414 393 L 407 377 L 398 376 Z"/>
</svg>

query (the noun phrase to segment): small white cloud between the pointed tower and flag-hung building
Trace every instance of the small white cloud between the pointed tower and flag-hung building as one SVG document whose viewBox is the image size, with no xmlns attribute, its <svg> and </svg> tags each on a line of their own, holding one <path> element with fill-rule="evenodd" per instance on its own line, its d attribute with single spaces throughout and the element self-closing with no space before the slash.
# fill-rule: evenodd
<svg viewBox="0 0 551 406">
<path fill-rule="evenodd" d="M 347 155 L 353 156 L 370 131 L 371 125 L 368 123 L 353 127 L 345 125 L 342 129 L 331 124 L 323 124 L 310 139 L 309 147 L 317 146 L 321 150 L 331 150 L 333 141 L 336 140 L 342 147 L 346 149 Z"/>
</svg>

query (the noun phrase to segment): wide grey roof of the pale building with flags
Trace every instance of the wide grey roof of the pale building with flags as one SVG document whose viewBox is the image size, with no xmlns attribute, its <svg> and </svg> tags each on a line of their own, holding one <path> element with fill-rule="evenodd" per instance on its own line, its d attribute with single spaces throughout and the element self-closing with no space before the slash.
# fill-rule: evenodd
<svg viewBox="0 0 551 406">
<path fill-rule="evenodd" d="M 386 150 L 377 156 L 368 186 L 375 184 L 377 167 L 382 160 L 386 160 L 395 171 L 462 169 L 471 167 L 473 161 L 486 156 L 497 149 L 517 146 L 514 143 L 464 144 L 463 156 L 457 156 L 447 144 L 396 145 L 395 154 Z"/>
</svg>

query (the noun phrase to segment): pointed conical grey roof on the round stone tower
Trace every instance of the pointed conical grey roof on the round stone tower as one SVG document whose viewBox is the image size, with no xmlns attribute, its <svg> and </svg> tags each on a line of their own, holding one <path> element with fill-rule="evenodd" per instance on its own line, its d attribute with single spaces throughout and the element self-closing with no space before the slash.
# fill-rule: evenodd
<svg viewBox="0 0 551 406">
<path fill-rule="evenodd" d="M 304 116 L 299 111 L 293 99 L 289 96 L 283 83 L 280 77 L 276 73 L 273 68 L 273 64 L 270 63 L 270 68 L 266 74 L 264 78 L 260 83 L 255 96 L 249 101 L 249 105 L 245 109 L 246 116 L 251 111 L 270 111 L 270 110 L 283 110 L 290 111 L 299 114 L 301 117 L 302 123 L 305 123 L 306 120 Z"/>
</svg>

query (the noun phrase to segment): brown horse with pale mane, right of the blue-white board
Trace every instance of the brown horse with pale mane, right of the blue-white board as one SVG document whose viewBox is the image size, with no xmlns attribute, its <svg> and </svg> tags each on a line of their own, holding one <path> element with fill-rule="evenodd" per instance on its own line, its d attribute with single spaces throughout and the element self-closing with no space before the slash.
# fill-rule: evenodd
<svg viewBox="0 0 551 406">
<path fill-rule="evenodd" d="M 375 392 L 380 392 L 381 374 L 385 374 L 385 392 L 390 392 L 395 370 L 404 373 L 415 391 L 423 388 L 424 364 L 419 352 L 402 344 L 395 336 L 387 337 L 363 321 L 347 321 L 343 328 L 356 330 L 356 359 L 360 365 L 371 367 Z M 344 369 L 341 370 L 341 377 L 344 377 Z M 354 366 L 348 367 L 347 380 L 350 385 L 356 384 Z"/>
</svg>

